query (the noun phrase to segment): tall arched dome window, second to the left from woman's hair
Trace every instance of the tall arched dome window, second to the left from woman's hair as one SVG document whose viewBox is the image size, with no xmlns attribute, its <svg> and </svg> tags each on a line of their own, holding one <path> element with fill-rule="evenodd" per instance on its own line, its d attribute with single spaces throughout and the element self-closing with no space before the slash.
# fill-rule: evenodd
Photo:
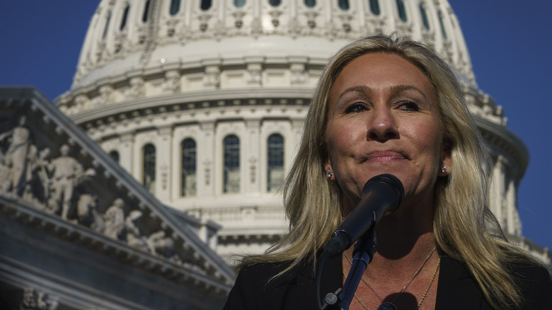
<svg viewBox="0 0 552 310">
<path fill-rule="evenodd" d="M 234 134 L 224 138 L 224 193 L 240 190 L 240 139 Z"/>
</svg>

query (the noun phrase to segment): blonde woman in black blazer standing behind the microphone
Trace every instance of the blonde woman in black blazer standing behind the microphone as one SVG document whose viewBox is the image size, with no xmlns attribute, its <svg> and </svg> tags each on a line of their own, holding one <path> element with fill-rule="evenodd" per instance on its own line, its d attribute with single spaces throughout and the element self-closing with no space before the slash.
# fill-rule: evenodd
<svg viewBox="0 0 552 310">
<path fill-rule="evenodd" d="M 376 36 L 340 50 L 290 171 L 289 234 L 243 260 L 225 309 L 318 309 L 317 256 L 381 173 L 405 196 L 376 225 L 350 309 L 552 309 L 550 275 L 503 239 L 487 207 L 490 159 L 454 74 L 427 47 Z M 350 259 L 351 249 L 326 264 L 322 296 L 343 285 Z"/>
</svg>

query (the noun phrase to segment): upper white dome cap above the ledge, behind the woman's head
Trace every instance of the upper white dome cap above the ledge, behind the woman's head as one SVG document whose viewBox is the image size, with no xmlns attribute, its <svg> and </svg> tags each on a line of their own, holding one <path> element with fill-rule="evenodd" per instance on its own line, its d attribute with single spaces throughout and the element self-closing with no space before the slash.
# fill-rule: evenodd
<svg viewBox="0 0 552 310">
<path fill-rule="evenodd" d="M 466 43 L 445 0 L 103 0 L 72 89 L 248 57 L 321 65 L 345 42 L 380 33 L 424 42 L 473 82 Z"/>
</svg>

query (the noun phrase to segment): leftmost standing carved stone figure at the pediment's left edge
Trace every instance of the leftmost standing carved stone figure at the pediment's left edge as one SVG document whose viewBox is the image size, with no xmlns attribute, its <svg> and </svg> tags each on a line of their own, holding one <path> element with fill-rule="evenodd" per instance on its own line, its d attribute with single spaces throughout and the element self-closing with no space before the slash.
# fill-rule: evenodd
<svg viewBox="0 0 552 310">
<path fill-rule="evenodd" d="M 30 170 L 27 168 L 27 155 L 30 145 L 30 132 L 25 127 L 27 117 L 24 115 L 19 118 L 19 125 L 12 130 L 0 134 L 0 141 L 10 137 L 11 144 L 4 154 L 3 166 L 7 167 L 8 174 L 2 188 L 6 191 L 11 188 L 11 193 L 16 196 L 23 190 L 25 181 L 30 179 Z M 4 170 L 3 168 L 3 170 Z"/>
</svg>

